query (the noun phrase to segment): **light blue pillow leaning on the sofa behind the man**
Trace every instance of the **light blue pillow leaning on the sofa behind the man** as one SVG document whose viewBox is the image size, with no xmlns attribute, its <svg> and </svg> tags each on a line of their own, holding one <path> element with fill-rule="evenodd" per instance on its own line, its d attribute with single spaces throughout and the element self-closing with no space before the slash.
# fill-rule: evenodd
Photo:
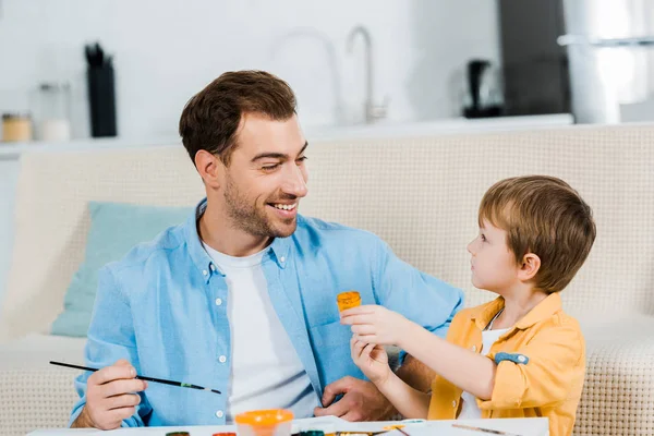
<svg viewBox="0 0 654 436">
<path fill-rule="evenodd" d="M 98 270 L 120 261 L 133 246 L 177 226 L 192 207 L 155 207 L 89 202 L 90 229 L 84 263 L 69 286 L 64 310 L 52 323 L 52 335 L 85 337 L 98 287 Z"/>
</svg>

